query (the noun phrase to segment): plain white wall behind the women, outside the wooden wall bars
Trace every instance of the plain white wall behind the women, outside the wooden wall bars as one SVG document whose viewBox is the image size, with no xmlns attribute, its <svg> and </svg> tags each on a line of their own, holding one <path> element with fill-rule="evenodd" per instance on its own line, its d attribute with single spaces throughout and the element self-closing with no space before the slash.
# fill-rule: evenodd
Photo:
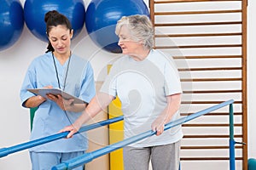
<svg viewBox="0 0 256 170">
<path fill-rule="evenodd" d="M 25 0 L 20 2 L 23 4 Z M 88 1 L 84 2 L 88 4 Z M 148 1 L 145 0 L 145 2 Z M 253 133 L 253 129 L 256 126 L 256 108 L 254 103 L 256 80 L 255 75 L 253 75 L 256 72 L 256 57 L 254 56 L 256 54 L 256 48 L 254 47 L 256 44 L 256 11 L 253 10 L 256 8 L 256 1 L 248 1 L 248 3 L 248 157 L 256 158 L 256 136 Z M 80 53 L 80 42 L 87 43 L 87 48 L 88 50 L 90 49 L 89 51 L 93 56 L 91 63 L 96 71 L 96 78 L 99 78 L 103 71 L 102 65 L 113 59 L 115 55 L 97 51 L 97 48 L 90 42 L 90 39 L 86 37 L 85 29 L 73 41 L 72 48 L 77 49 L 78 53 Z M 11 48 L 0 51 L 0 148 L 20 144 L 29 139 L 29 111 L 20 106 L 20 85 L 25 76 L 27 66 L 38 54 L 44 53 L 46 46 L 46 42 L 33 37 L 25 25 L 19 41 Z M 97 51 L 96 53 L 95 50 Z M 0 169 L 30 168 L 27 150 L 0 158 Z"/>
</svg>

